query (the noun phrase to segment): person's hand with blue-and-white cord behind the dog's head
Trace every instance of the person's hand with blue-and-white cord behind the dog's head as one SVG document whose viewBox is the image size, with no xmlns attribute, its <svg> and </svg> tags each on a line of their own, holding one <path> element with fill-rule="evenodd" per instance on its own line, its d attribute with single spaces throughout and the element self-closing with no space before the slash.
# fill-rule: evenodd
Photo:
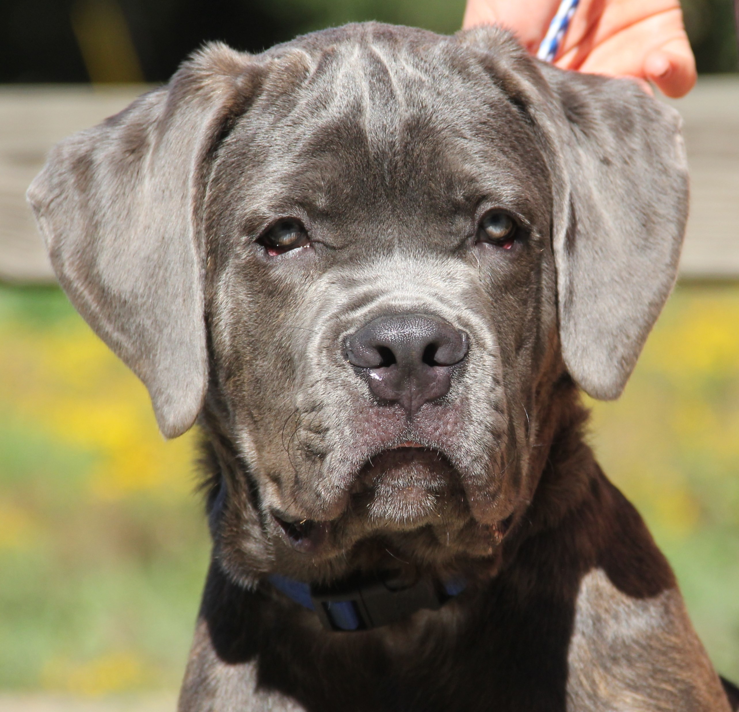
<svg viewBox="0 0 739 712">
<path fill-rule="evenodd" d="M 465 29 L 500 24 L 535 54 L 559 0 L 468 0 Z M 580 0 L 554 64 L 562 69 L 647 81 L 667 96 L 695 84 L 679 0 Z"/>
</svg>

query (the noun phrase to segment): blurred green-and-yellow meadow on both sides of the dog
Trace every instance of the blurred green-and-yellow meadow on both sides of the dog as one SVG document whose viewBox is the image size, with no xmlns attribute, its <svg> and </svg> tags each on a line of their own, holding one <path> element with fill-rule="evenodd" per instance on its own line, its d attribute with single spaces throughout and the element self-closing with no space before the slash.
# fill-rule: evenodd
<svg viewBox="0 0 739 712">
<path fill-rule="evenodd" d="M 0 286 L 0 688 L 176 688 L 205 577 L 194 435 L 56 289 Z M 591 440 L 739 679 L 739 288 L 680 288 Z"/>
</svg>

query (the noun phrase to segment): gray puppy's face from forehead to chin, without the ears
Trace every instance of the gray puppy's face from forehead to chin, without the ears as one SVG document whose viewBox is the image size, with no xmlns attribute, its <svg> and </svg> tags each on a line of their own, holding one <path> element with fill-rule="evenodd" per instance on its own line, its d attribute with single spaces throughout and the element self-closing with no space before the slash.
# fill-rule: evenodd
<svg viewBox="0 0 739 712">
<path fill-rule="evenodd" d="M 467 525 L 522 496 L 556 339 L 534 131 L 474 72 L 435 84 L 439 64 L 387 55 L 339 47 L 288 106 L 268 77 L 205 206 L 229 433 L 262 507 L 321 557 L 374 530 L 489 549 Z"/>
</svg>

